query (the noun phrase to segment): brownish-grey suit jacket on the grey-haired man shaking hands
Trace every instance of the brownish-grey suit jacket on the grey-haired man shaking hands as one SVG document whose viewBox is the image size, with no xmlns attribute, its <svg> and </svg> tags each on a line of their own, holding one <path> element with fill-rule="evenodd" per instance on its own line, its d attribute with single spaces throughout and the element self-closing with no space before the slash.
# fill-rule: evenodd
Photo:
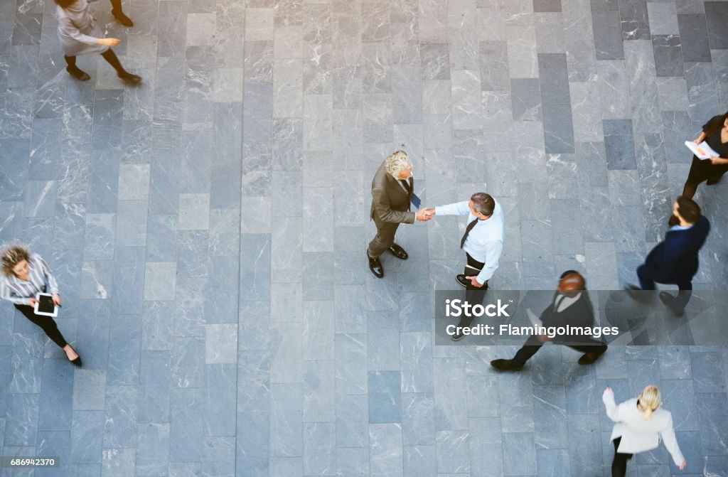
<svg viewBox="0 0 728 477">
<path fill-rule="evenodd" d="M 414 224 L 415 213 L 410 212 L 410 196 L 399 181 L 387 173 L 384 162 L 374 174 L 371 181 L 371 218 L 374 221 L 392 224 Z M 414 191 L 414 180 L 408 180 Z"/>
</svg>

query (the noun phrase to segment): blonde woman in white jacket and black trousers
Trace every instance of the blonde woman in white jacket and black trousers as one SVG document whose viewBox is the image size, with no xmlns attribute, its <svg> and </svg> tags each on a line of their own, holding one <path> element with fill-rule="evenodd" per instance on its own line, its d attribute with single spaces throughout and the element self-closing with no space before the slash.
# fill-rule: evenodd
<svg viewBox="0 0 728 477">
<path fill-rule="evenodd" d="M 610 438 L 614 444 L 612 477 L 624 477 L 627 461 L 632 455 L 657 449 L 660 438 L 673 457 L 675 465 L 680 470 L 685 468 L 687 461 L 675 438 L 673 416 L 670 411 L 660 409 L 662 397 L 657 387 L 647 386 L 638 398 L 629 399 L 619 406 L 614 403 L 612 388 L 607 387 L 602 401 L 606 406 L 606 415 L 615 422 Z"/>
</svg>

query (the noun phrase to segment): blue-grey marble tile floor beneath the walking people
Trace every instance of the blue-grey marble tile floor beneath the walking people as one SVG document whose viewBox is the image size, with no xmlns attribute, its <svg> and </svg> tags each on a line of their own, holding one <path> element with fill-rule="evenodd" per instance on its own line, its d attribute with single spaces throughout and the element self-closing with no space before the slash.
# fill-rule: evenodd
<svg viewBox="0 0 728 477">
<path fill-rule="evenodd" d="M 464 224 L 402 226 L 407 262 L 366 268 L 369 184 L 389 152 L 427 205 L 486 190 L 507 242 L 491 288 L 634 281 L 687 177 L 682 142 L 728 109 L 728 2 L 129 0 L 92 7 L 96 57 L 64 71 L 50 0 L 0 1 L 0 243 L 55 271 L 69 365 L 0 307 L 5 476 L 609 476 L 601 404 L 654 383 L 688 468 L 728 476 L 727 347 L 433 342 L 433 291 Z M 724 290 L 728 186 L 699 289 Z"/>
</svg>

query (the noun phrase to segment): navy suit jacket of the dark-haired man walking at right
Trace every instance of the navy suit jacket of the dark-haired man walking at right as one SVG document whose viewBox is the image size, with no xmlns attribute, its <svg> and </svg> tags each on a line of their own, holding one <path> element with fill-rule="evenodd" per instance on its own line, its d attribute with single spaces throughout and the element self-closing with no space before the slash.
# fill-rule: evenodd
<svg viewBox="0 0 728 477">
<path fill-rule="evenodd" d="M 690 280 L 697 273 L 697 253 L 710 230 L 711 224 L 704 216 L 687 230 L 670 230 L 645 261 L 652 269 L 652 278 L 660 283 Z"/>
</svg>

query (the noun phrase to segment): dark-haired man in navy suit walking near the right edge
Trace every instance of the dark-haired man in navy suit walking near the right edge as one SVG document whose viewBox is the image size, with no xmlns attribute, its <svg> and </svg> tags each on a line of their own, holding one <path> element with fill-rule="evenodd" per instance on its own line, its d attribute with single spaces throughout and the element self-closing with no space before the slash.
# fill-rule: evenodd
<svg viewBox="0 0 728 477">
<path fill-rule="evenodd" d="M 654 290 L 654 283 L 678 285 L 678 296 L 666 291 L 660 292 L 662 303 L 675 313 L 684 314 L 685 306 L 692 295 L 692 277 L 697 273 L 697 253 L 705 243 L 711 230 L 708 219 L 700 213 L 700 206 L 692 199 L 680 196 L 673 204 L 673 214 L 678 224 L 665 234 L 665 240 L 658 243 L 637 269 L 640 287 L 626 285 L 630 295 L 644 300 L 638 290 Z"/>
</svg>

